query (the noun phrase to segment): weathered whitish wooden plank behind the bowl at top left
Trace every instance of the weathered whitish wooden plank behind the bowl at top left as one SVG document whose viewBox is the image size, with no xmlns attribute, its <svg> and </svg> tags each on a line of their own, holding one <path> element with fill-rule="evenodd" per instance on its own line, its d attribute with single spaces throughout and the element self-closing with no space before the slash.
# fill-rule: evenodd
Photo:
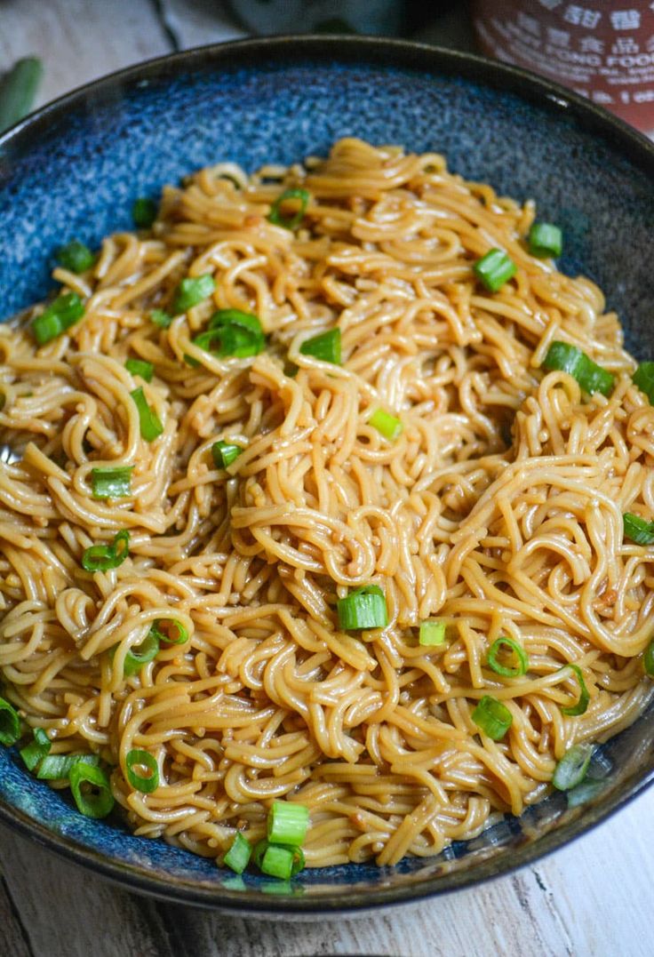
<svg viewBox="0 0 654 957">
<path fill-rule="evenodd" d="M 0 71 L 20 56 L 40 56 L 38 104 L 170 46 L 148 0 L 9 0 L 0 11 Z"/>
</svg>

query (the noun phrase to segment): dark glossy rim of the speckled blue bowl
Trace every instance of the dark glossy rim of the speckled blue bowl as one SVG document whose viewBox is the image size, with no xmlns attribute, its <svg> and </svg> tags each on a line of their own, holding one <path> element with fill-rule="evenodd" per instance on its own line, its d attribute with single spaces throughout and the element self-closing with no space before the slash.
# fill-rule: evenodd
<svg viewBox="0 0 654 957">
<path fill-rule="evenodd" d="M 38 138 L 65 117 L 69 109 L 90 110 L 94 103 L 106 102 L 106 93 L 112 89 L 134 90 L 139 85 L 172 79 L 189 71 L 206 68 L 249 67 L 258 58 L 266 63 L 291 63 L 302 60 L 322 60 L 334 65 L 365 63 L 389 65 L 394 69 L 422 71 L 434 76 L 460 77 L 512 94 L 520 100 L 538 105 L 545 111 L 575 118 L 580 128 L 605 140 L 633 166 L 640 168 L 654 185 L 654 144 L 643 133 L 609 113 L 603 107 L 586 100 L 573 90 L 524 70 L 485 56 L 447 50 L 413 40 L 377 36 L 345 36 L 340 34 L 283 34 L 225 43 L 193 47 L 164 56 L 147 59 L 91 80 L 52 100 L 0 135 L 0 171 L 2 161 L 15 148 L 29 150 L 33 138 Z M 562 828 L 554 828 L 537 840 L 512 848 L 506 859 L 496 861 L 494 869 L 482 876 L 474 876 L 473 868 L 463 868 L 443 876 L 431 876 L 419 884 L 381 887 L 352 893 L 343 899 L 338 887 L 320 897 L 276 897 L 274 905 L 266 895 L 252 889 L 247 895 L 216 885 L 198 885 L 193 881 L 177 880 L 169 883 L 146 870 L 145 867 L 121 861 L 115 862 L 101 852 L 78 843 L 64 835 L 50 831 L 40 821 L 13 807 L 0 797 L 0 823 L 13 828 L 20 835 L 30 837 L 49 851 L 65 857 L 124 889 L 158 898 L 163 901 L 194 904 L 233 914 L 249 913 L 259 917 L 291 917 L 321 914 L 365 913 L 382 906 L 424 901 L 454 890 L 479 885 L 489 879 L 506 876 L 513 871 L 545 857 L 558 847 L 570 844 L 581 835 L 598 827 L 611 814 L 619 811 L 641 795 L 654 783 L 654 768 L 643 776 L 631 775 L 625 787 L 609 795 L 601 807 L 590 807 Z"/>
</svg>

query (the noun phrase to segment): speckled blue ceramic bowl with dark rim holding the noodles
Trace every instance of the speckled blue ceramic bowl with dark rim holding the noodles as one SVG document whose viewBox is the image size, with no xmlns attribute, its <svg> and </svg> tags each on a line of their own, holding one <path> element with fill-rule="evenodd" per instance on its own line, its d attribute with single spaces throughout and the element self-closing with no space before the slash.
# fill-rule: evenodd
<svg viewBox="0 0 654 957">
<path fill-rule="evenodd" d="M 519 199 L 566 234 L 564 271 L 606 291 L 627 339 L 654 354 L 654 147 L 546 80 L 474 56 L 345 37 L 275 38 L 153 60 L 45 107 L 0 140 L 0 311 L 45 295 L 71 236 L 129 228 L 133 199 L 219 160 L 247 169 L 325 154 L 342 136 L 438 150 L 450 168 Z M 120 822 L 82 817 L 0 748 L 0 817 L 134 890 L 259 912 L 319 914 L 419 898 L 507 872 L 587 831 L 654 776 L 654 710 L 601 749 L 600 794 L 556 794 L 440 857 L 241 881 Z M 274 897 L 271 897 L 274 895 Z"/>
</svg>

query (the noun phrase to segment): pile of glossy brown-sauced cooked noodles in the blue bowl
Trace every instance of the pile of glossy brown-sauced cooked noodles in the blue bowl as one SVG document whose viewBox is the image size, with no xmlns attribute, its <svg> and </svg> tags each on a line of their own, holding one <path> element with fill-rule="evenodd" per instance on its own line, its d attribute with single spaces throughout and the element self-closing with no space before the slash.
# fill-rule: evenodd
<svg viewBox="0 0 654 957">
<path fill-rule="evenodd" d="M 289 230 L 267 216 L 293 188 L 311 199 Z M 622 514 L 654 518 L 654 410 L 597 286 L 527 252 L 533 218 L 436 154 L 356 140 L 251 177 L 222 164 L 91 269 L 56 270 L 85 305 L 63 335 L 38 348 L 26 323 L 0 328 L 0 439 L 22 456 L 0 466 L 3 694 L 52 753 L 101 755 L 137 834 L 219 862 L 287 797 L 310 808 L 310 866 L 434 855 L 642 711 L 654 552 Z M 496 294 L 471 268 L 492 247 L 518 266 Z M 151 321 L 205 274 L 212 296 Z M 225 308 L 259 317 L 259 355 L 191 343 Z M 300 351 L 335 325 L 342 366 Z M 556 340 L 616 375 L 610 397 L 545 373 Z M 137 386 L 164 426 L 151 442 Z M 227 470 L 219 439 L 244 450 Z M 119 465 L 130 496 L 94 499 L 92 469 Z M 123 564 L 84 570 L 121 529 Z M 336 601 L 371 584 L 388 627 L 339 630 Z M 437 646 L 418 643 L 430 618 Z M 189 641 L 124 677 L 169 619 Z M 527 674 L 489 669 L 501 636 Z M 562 710 L 569 663 L 582 715 Z M 497 742 L 471 717 L 485 695 L 512 716 Z M 128 783 L 132 748 L 156 759 L 151 793 Z"/>
</svg>

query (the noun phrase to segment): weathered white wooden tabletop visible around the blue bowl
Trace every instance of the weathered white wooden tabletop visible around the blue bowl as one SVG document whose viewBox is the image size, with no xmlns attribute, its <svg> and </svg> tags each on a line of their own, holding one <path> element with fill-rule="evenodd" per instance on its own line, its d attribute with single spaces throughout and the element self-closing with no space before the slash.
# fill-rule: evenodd
<svg viewBox="0 0 654 957">
<path fill-rule="evenodd" d="M 0 72 L 40 56 L 45 101 L 238 35 L 219 0 L 0 0 Z M 150 901 L 0 829 L 0 957 L 652 957 L 652 849 L 654 789 L 513 876 L 372 917 L 293 924 Z"/>
</svg>

